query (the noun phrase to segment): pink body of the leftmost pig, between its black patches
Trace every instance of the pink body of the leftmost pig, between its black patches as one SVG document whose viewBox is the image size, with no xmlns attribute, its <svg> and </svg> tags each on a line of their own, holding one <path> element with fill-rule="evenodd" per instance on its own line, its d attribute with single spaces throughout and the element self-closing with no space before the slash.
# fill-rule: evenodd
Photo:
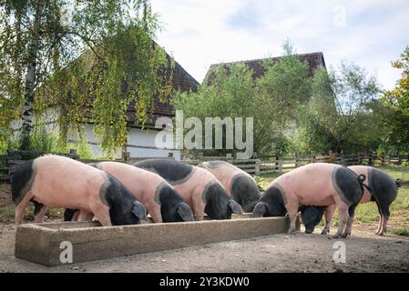
<svg viewBox="0 0 409 291">
<path fill-rule="evenodd" d="M 89 209 L 89 196 L 99 196 L 104 172 L 65 156 L 41 156 L 34 162 L 31 192 L 46 206 Z"/>
</svg>

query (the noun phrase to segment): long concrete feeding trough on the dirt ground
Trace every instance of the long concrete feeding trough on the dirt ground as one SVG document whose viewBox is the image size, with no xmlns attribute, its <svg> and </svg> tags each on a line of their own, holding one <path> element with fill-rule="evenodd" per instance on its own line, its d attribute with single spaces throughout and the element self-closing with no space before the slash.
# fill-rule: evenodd
<svg viewBox="0 0 409 291">
<path fill-rule="evenodd" d="M 288 217 L 251 218 L 251 214 L 230 220 L 148 221 L 136 226 L 101 226 L 98 222 L 26 224 L 17 228 L 15 257 L 58 266 L 64 265 L 60 261 L 63 242 L 72 244 L 73 263 L 80 263 L 279 234 L 286 232 L 288 225 Z"/>
</svg>

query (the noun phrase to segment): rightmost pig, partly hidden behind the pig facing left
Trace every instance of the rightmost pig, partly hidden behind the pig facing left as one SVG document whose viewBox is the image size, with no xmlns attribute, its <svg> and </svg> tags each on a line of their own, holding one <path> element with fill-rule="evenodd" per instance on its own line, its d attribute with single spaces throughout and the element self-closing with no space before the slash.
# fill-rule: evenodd
<svg viewBox="0 0 409 291">
<path fill-rule="evenodd" d="M 397 196 L 397 189 L 401 186 L 400 180 L 394 180 L 392 176 L 384 173 L 373 166 L 349 166 L 357 175 L 367 176 L 364 182 L 365 190 L 360 203 L 374 201 L 379 211 L 379 226 L 376 235 L 383 236 L 386 233 L 386 226 L 390 216 L 389 206 L 394 202 Z M 330 232 L 331 221 L 335 206 L 328 206 L 325 211 L 325 226 L 322 229 L 322 235 Z M 320 217 L 321 221 L 322 216 Z M 317 217 L 318 219 L 318 217 Z"/>
</svg>

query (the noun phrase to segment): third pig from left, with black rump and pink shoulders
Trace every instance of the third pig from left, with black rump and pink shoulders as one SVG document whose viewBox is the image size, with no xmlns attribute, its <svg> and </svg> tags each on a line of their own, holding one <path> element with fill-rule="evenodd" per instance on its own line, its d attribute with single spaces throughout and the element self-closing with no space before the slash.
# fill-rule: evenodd
<svg viewBox="0 0 409 291">
<path fill-rule="evenodd" d="M 216 177 L 201 167 L 160 158 L 133 165 L 164 178 L 185 199 L 196 220 L 202 220 L 204 213 L 211 219 L 230 219 L 232 213 L 243 214 L 241 206 L 226 194 Z"/>
</svg>

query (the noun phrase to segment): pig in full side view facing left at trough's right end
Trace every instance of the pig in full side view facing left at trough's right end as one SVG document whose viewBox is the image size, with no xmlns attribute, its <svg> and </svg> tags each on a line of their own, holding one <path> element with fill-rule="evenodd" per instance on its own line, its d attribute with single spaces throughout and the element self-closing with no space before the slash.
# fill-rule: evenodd
<svg viewBox="0 0 409 291">
<path fill-rule="evenodd" d="M 253 210 L 254 217 L 290 217 L 288 233 L 295 231 L 299 206 L 330 206 L 340 213 L 340 225 L 334 235 L 351 235 L 355 207 L 363 196 L 364 175 L 356 175 L 343 166 L 314 163 L 300 166 L 271 182 Z"/>
</svg>

